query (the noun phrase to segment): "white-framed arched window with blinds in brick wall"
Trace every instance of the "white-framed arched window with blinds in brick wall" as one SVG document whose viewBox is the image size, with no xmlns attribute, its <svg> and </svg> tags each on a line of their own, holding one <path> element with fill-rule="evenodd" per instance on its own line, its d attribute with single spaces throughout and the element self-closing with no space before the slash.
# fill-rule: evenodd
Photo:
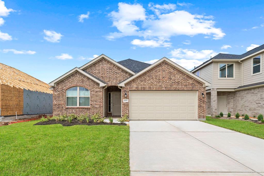
<svg viewBox="0 0 264 176">
<path fill-rule="evenodd" d="M 84 87 L 71 87 L 66 91 L 66 106 L 90 106 L 90 91 Z"/>
</svg>

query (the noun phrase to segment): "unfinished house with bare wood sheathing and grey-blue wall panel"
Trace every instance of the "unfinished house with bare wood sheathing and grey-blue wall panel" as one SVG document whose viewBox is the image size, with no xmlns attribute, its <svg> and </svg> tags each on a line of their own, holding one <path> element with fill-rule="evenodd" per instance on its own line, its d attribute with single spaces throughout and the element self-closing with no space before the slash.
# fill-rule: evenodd
<svg viewBox="0 0 264 176">
<path fill-rule="evenodd" d="M 49 85 L 0 63 L 0 116 L 52 113 Z"/>
</svg>

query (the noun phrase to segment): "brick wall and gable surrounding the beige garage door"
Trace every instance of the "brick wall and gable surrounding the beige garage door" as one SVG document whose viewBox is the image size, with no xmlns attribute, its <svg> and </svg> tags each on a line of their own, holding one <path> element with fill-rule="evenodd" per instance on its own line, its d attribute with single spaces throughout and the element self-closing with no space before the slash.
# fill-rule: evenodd
<svg viewBox="0 0 264 176">
<path fill-rule="evenodd" d="M 206 97 L 201 95 L 206 95 L 205 87 L 166 61 L 126 83 L 122 87 L 122 99 L 129 99 L 129 90 L 198 90 L 198 118 L 205 118 Z M 129 114 L 129 103 L 122 102 L 122 115 L 124 114 Z"/>
</svg>

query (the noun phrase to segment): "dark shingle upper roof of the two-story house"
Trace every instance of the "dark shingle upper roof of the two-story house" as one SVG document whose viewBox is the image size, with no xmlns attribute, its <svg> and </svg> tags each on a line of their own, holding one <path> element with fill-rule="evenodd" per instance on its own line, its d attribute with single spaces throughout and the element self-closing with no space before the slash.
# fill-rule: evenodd
<svg viewBox="0 0 264 176">
<path fill-rule="evenodd" d="M 211 59 L 205 61 L 204 63 L 202 63 L 198 67 L 195 67 L 195 69 L 199 68 L 200 66 L 204 65 L 205 63 L 209 62 L 212 59 L 241 59 L 243 57 L 249 56 L 249 55 L 251 55 L 251 54 L 253 54 L 255 52 L 258 52 L 260 50 L 263 50 L 263 49 L 264 49 L 264 44 L 259 46 L 259 47 L 254 48 L 254 49 L 252 49 L 252 50 L 250 50 L 250 51 L 248 51 L 248 52 L 246 52 L 246 53 L 244 53 L 242 55 L 219 53 L 218 55 L 216 55 L 216 56 L 212 57 Z M 195 70 L 195 69 L 193 69 L 193 70 Z M 191 72 L 193 70 L 191 70 Z"/>
</svg>

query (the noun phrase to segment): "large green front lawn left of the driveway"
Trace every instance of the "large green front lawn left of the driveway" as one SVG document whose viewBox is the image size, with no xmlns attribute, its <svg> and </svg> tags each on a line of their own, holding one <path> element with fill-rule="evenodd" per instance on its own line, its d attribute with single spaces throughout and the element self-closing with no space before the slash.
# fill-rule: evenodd
<svg viewBox="0 0 264 176">
<path fill-rule="evenodd" d="M 0 126 L 0 175 L 129 175 L 129 126 Z"/>
</svg>

